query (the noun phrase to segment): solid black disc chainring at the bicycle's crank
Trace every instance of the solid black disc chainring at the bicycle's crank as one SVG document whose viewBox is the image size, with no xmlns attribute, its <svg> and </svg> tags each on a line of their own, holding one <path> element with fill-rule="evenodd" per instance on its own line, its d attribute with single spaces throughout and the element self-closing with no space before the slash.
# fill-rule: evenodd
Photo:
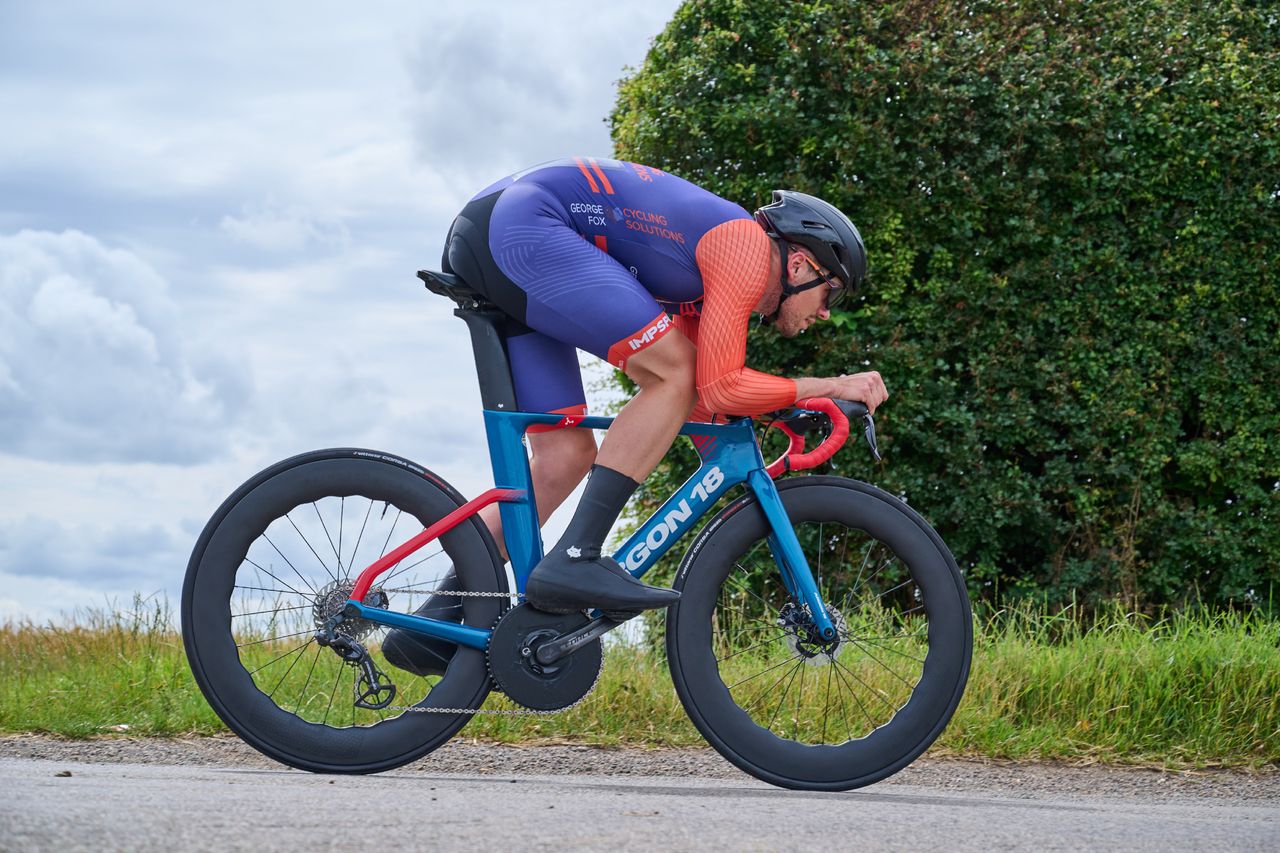
<svg viewBox="0 0 1280 853">
<path fill-rule="evenodd" d="M 604 648 L 599 639 L 584 643 L 554 663 L 541 665 L 538 647 L 590 620 L 585 613 L 544 613 L 529 605 L 512 607 L 493 628 L 489 675 L 507 697 L 532 711 L 559 711 L 582 701 L 600 678 Z"/>
</svg>

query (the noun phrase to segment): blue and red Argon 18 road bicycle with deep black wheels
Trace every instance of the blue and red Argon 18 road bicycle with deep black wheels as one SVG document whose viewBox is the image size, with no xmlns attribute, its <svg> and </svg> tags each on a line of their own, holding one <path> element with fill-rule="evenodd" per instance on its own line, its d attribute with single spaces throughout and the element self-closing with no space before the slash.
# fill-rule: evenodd
<svg viewBox="0 0 1280 853">
<path fill-rule="evenodd" d="M 390 453 L 303 453 L 228 497 L 187 569 L 182 634 L 196 683 L 232 731 L 302 770 L 384 771 L 438 748 L 472 715 L 572 707 L 599 676 L 603 635 L 622 624 L 520 601 L 543 556 L 525 430 L 607 429 L 612 419 L 518 411 L 500 311 L 453 275 L 419 277 L 468 325 L 495 488 L 467 501 Z M 828 460 L 850 416 L 877 453 L 861 403 L 810 400 L 781 412 L 773 425 L 790 447 L 772 465 L 750 419 L 686 424 L 700 467 L 614 553 L 644 575 L 745 487 L 680 564 L 666 649 L 707 742 L 785 788 L 846 790 L 901 770 L 950 721 L 969 672 L 965 585 L 924 519 L 856 480 L 773 479 Z M 806 452 L 814 432 L 826 438 Z M 493 502 L 509 578 L 475 515 Z M 460 617 L 415 616 L 433 594 L 456 598 Z M 383 666 L 388 629 L 443 648 L 438 669 Z M 492 690 L 520 707 L 481 707 Z"/>
</svg>

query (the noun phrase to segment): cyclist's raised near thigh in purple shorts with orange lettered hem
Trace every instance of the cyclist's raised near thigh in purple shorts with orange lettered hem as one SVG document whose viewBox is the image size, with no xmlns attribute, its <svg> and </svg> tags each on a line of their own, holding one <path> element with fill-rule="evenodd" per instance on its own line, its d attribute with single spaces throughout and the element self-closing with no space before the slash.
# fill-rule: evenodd
<svg viewBox="0 0 1280 853">
<path fill-rule="evenodd" d="M 558 207 L 534 183 L 504 190 L 489 224 L 493 259 L 526 296 L 526 325 L 625 368 L 671 320 L 626 268 L 564 224 Z"/>
</svg>

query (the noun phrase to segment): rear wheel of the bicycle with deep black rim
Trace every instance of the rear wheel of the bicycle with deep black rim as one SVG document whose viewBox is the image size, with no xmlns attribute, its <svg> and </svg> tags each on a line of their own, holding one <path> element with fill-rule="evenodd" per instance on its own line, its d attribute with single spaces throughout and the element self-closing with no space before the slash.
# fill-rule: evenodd
<svg viewBox="0 0 1280 853">
<path fill-rule="evenodd" d="M 227 498 L 182 590 L 187 660 L 223 722 L 271 758 L 315 772 L 390 770 L 453 736 L 470 715 L 397 708 L 480 707 L 490 685 L 484 652 L 458 647 L 443 676 L 412 675 L 381 657 L 387 629 L 364 622 L 357 639 L 398 689 L 389 708 L 369 711 L 355 706 L 358 667 L 311 634 L 361 569 L 462 503 L 430 471 L 353 448 L 294 456 Z M 472 517 L 384 573 L 371 594 L 381 589 L 387 607 L 412 612 L 449 565 L 463 589 L 508 592 L 493 539 Z M 485 629 L 509 603 L 461 601 L 462 621 Z"/>
</svg>

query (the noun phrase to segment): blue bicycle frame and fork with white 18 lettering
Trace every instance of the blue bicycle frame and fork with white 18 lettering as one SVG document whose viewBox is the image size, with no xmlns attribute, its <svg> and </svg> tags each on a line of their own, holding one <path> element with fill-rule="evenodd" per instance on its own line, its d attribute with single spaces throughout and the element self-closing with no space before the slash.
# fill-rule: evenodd
<svg viewBox="0 0 1280 853">
<path fill-rule="evenodd" d="M 485 432 L 489 438 L 489 456 L 493 462 L 493 476 L 498 489 L 503 491 L 502 526 L 516 578 L 516 592 L 525 592 L 529 573 L 543 558 L 541 530 L 538 524 L 538 503 L 534 494 L 532 475 L 529 469 L 529 456 L 521 442 L 525 430 L 535 424 L 553 425 L 566 429 L 608 429 L 612 418 L 582 418 L 567 421 L 563 415 L 545 415 L 518 411 L 484 412 Z M 613 557 L 626 566 L 636 578 L 644 576 L 678 539 L 681 539 L 732 487 L 745 483 L 755 494 L 769 521 L 773 533 L 769 547 L 782 574 L 782 581 L 792 601 L 806 606 L 813 615 L 814 625 L 823 637 L 835 637 L 835 626 L 827 615 L 827 608 L 814 583 L 809 561 L 800 548 L 795 529 L 787 519 L 786 508 L 773 485 L 773 479 L 764 470 L 760 446 L 755 441 L 755 430 L 750 419 L 727 424 L 685 424 L 681 435 L 689 435 L 701 466 L 667 498 L 640 529 L 614 552 Z M 479 506 L 466 515 L 474 514 Z M 458 517 L 463 520 L 466 515 Z M 416 542 L 413 549 L 426 544 L 429 539 Z M 402 560 L 406 553 L 396 553 Z M 375 564 L 376 565 L 376 564 Z M 384 566 L 383 570 L 385 570 Z M 374 569 L 374 566 L 370 566 Z M 370 569 L 361 573 L 361 581 L 372 580 L 367 576 Z M 357 589 L 361 585 L 357 584 Z M 367 585 L 364 587 L 367 589 Z M 451 640 L 460 646 L 485 649 L 489 646 L 489 629 L 460 625 L 457 622 L 398 613 L 379 607 L 369 607 L 352 598 L 360 619 L 410 630 L 413 633 Z"/>
</svg>

